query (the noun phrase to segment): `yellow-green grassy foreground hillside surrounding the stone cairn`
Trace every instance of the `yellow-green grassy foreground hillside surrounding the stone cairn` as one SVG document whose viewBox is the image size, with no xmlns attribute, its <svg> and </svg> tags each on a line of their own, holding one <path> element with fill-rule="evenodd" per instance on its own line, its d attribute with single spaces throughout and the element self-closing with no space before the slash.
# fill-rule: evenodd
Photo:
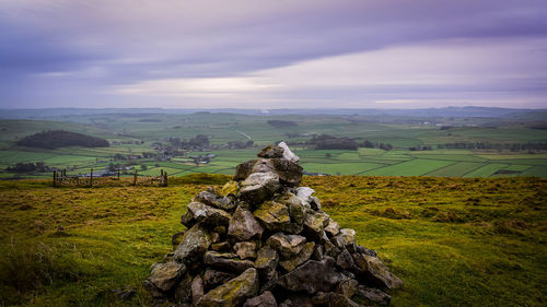
<svg viewBox="0 0 547 307">
<path fill-rule="evenodd" d="M 172 249 L 171 235 L 184 229 L 185 204 L 229 178 L 94 189 L 1 181 L 0 302 L 149 306 L 142 280 Z M 393 306 L 547 303 L 545 179 L 331 176 L 305 177 L 303 185 L 405 281 Z M 126 287 L 136 290 L 128 300 L 117 294 Z"/>
</svg>

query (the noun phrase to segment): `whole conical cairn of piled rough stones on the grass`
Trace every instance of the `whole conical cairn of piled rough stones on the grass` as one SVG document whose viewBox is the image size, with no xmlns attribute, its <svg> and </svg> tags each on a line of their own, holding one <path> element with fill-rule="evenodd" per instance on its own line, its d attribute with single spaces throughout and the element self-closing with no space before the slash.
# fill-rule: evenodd
<svg viewBox="0 0 547 307">
<path fill-rule="evenodd" d="M 280 143 L 240 164 L 221 190 L 201 191 L 174 252 L 144 281 L 158 303 L 177 306 L 361 306 L 389 304 L 403 282 L 356 244 L 298 187 L 299 157 Z"/>
</svg>

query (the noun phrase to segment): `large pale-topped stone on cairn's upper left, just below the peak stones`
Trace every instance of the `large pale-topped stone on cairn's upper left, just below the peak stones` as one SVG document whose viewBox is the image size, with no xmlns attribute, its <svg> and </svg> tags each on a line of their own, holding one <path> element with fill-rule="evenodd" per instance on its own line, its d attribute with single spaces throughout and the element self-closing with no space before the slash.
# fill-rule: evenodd
<svg viewBox="0 0 547 307">
<path fill-rule="evenodd" d="M 241 182 L 241 199 L 249 203 L 260 203 L 280 188 L 279 177 L 271 173 L 254 173 Z"/>
</svg>

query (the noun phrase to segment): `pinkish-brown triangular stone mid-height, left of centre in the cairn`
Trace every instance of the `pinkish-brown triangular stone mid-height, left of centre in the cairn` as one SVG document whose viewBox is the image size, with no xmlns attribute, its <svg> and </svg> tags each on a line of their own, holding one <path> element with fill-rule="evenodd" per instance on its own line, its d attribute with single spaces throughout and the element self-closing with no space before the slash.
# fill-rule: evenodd
<svg viewBox="0 0 547 307">
<path fill-rule="evenodd" d="M 251 211 L 237 206 L 228 225 L 228 236 L 234 241 L 260 238 L 264 227 L 256 221 Z"/>
</svg>

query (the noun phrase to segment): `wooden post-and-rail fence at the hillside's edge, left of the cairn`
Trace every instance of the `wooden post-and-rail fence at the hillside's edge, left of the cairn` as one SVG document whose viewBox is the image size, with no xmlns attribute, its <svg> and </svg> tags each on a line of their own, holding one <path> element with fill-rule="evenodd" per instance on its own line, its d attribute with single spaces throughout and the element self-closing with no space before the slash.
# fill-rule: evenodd
<svg viewBox="0 0 547 307">
<path fill-rule="evenodd" d="M 62 186 L 97 187 L 97 186 L 159 186 L 167 187 L 167 172 L 161 169 L 160 176 L 139 176 L 137 169 L 131 177 L 93 176 L 93 168 L 89 175 L 67 175 L 67 169 L 54 170 L 54 188 Z"/>
</svg>

